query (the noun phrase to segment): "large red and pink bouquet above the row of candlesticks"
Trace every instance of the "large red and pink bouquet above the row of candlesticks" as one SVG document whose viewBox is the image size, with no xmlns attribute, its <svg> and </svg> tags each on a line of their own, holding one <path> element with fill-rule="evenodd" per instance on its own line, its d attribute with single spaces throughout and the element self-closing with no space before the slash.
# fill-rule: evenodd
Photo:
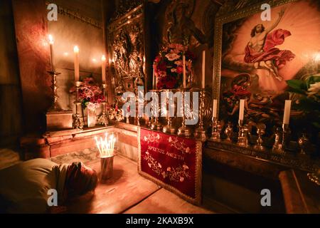
<svg viewBox="0 0 320 228">
<path fill-rule="evenodd" d="M 191 75 L 194 55 L 187 46 L 170 43 L 161 49 L 154 60 L 157 89 L 178 88 L 182 85 L 183 65 L 182 56 L 186 58 L 186 76 Z"/>
</svg>

